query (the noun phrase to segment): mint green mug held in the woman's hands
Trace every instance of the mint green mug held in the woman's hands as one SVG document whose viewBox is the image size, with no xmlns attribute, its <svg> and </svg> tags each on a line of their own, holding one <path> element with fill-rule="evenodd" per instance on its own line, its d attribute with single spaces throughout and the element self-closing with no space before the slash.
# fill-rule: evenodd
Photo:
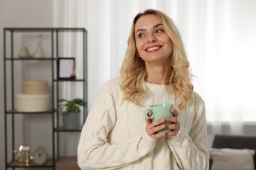
<svg viewBox="0 0 256 170">
<path fill-rule="evenodd" d="M 172 103 L 151 105 L 150 107 L 148 107 L 148 109 L 145 109 L 143 111 L 143 113 L 146 118 L 152 119 L 152 121 L 154 121 L 154 120 L 159 120 L 163 117 L 173 116 L 173 114 L 171 113 L 172 108 L 173 108 Z M 152 112 L 152 115 L 148 115 L 149 111 Z M 163 124 L 171 124 L 171 122 L 164 122 Z M 170 131 L 171 131 L 171 129 L 162 129 L 162 130 L 158 131 L 157 133 L 170 132 Z"/>
</svg>

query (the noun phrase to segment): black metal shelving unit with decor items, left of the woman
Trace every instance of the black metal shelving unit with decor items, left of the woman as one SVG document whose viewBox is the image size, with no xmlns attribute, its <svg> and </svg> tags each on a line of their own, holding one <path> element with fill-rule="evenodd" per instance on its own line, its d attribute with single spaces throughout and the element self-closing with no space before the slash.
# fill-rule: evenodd
<svg viewBox="0 0 256 170">
<path fill-rule="evenodd" d="M 82 35 L 82 52 L 81 56 L 77 56 L 76 58 L 82 58 L 83 65 L 83 73 L 82 77 L 75 79 L 58 79 L 56 73 L 56 65 L 57 60 L 60 58 L 58 56 L 59 50 L 58 46 L 60 43 L 59 33 L 80 33 Z M 18 56 L 14 56 L 14 44 L 17 45 L 18 42 L 14 42 L 15 33 L 49 33 L 51 35 L 51 57 L 49 58 L 18 58 Z M 65 132 L 80 132 L 81 127 L 78 129 L 63 129 L 60 126 L 59 115 L 57 109 L 57 101 L 60 95 L 59 86 L 62 82 L 75 82 L 83 84 L 83 99 L 87 102 L 87 30 L 85 28 L 77 28 L 77 27 L 5 27 L 3 30 L 4 40 L 3 40 L 3 60 L 4 60 L 4 110 L 5 110 L 5 169 L 16 169 L 20 167 L 47 167 L 55 169 L 56 161 L 60 160 L 60 148 L 59 148 L 59 135 L 60 133 Z M 8 40 L 8 41 L 7 41 Z M 7 52 L 8 51 L 8 52 Z M 8 54 L 7 54 L 8 53 Z M 14 105 L 14 96 L 15 96 L 15 78 L 14 78 L 14 62 L 22 62 L 22 61 L 48 61 L 51 64 L 51 109 L 45 112 L 20 112 L 15 109 Z M 8 65 L 8 66 L 7 66 Z M 10 68 L 11 67 L 11 68 Z M 7 83 L 7 78 L 9 83 Z M 9 86 L 11 84 L 11 86 Z M 7 96 L 8 95 L 8 96 Z M 8 98 L 8 99 L 7 99 Z M 18 160 L 14 158 L 14 154 L 10 152 L 10 150 L 14 150 L 14 141 L 16 139 L 15 134 L 15 120 L 14 117 L 18 114 L 50 114 L 51 115 L 51 124 L 52 130 L 49 134 L 52 136 L 52 155 L 53 158 L 47 160 L 43 165 L 36 165 L 31 161 L 27 165 L 20 165 Z M 87 107 L 83 108 L 83 122 L 85 122 L 87 118 Z M 11 134 L 7 133 L 8 128 L 11 126 Z M 20 141 L 22 143 L 22 141 Z M 11 149 L 10 149 L 11 148 Z M 8 158 L 11 157 L 11 160 Z"/>
</svg>

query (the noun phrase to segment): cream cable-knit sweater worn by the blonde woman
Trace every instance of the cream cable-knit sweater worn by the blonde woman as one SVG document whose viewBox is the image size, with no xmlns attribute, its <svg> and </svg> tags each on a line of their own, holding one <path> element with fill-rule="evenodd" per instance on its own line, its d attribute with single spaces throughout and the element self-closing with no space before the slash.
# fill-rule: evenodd
<svg viewBox="0 0 256 170">
<path fill-rule="evenodd" d="M 175 137 L 151 139 L 142 107 L 123 100 L 120 77 L 100 88 L 81 131 L 77 162 L 81 169 L 208 169 L 205 105 L 196 94 L 180 110 L 164 85 L 146 83 L 142 105 L 174 103 L 181 129 Z"/>
</svg>

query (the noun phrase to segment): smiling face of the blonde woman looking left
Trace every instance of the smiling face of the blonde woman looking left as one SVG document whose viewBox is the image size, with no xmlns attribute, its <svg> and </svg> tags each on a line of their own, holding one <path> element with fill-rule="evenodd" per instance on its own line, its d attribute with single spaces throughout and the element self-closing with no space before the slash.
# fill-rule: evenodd
<svg viewBox="0 0 256 170">
<path fill-rule="evenodd" d="M 141 16 L 135 24 L 135 42 L 139 56 L 148 63 L 169 64 L 173 42 L 155 14 Z"/>
</svg>

